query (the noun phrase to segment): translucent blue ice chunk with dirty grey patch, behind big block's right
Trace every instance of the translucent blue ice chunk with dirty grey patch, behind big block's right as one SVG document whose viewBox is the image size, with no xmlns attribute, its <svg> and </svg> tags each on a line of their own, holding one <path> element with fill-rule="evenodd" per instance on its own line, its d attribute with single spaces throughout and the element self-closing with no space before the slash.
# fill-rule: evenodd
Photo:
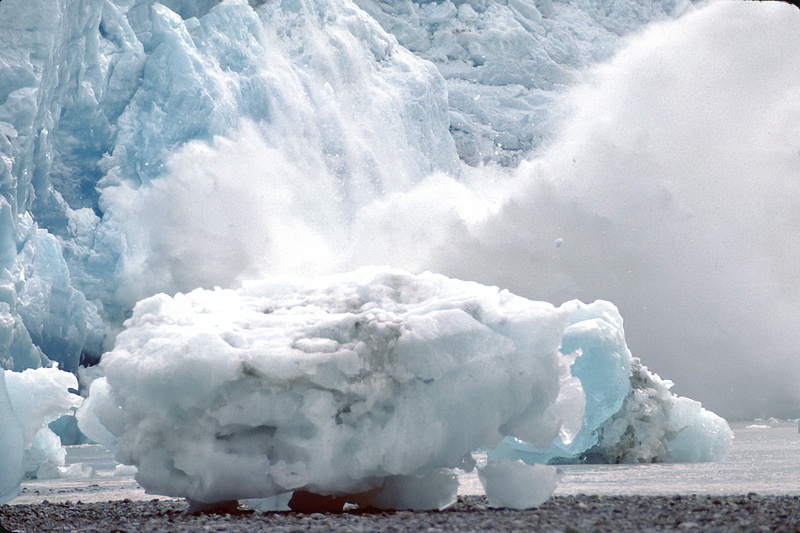
<svg viewBox="0 0 800 533">
<path fill-rule="evenodd" d="M 733 443 L 728 423 L 699 402 L 670 392 L 662 380 L 631 355 L 622 317 L 608 302 L 569 302 L 572 323 L 561 351 L 574 357 L 586 408 L 572 440 L 556 438 L 538 447 L 506 439 L 489 453 L 493 461 L 528 463 L 636 463 L 721 461 Z"/>
</svg>

